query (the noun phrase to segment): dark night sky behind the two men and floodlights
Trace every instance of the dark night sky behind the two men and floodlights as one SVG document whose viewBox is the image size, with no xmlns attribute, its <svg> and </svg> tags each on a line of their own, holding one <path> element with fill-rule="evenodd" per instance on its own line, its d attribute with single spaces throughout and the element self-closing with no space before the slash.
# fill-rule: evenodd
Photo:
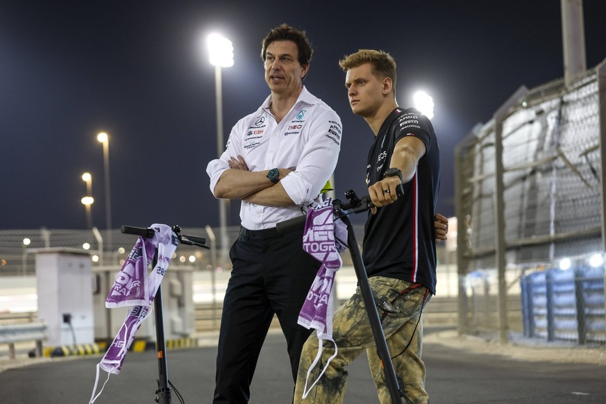
<svg viewBox="0 0 606 404">
<path fill-rule="evenodd" d="M 112 226 L 219 224 L 205 168 L 217 155 L 214 67 L 205 37 L 235 48 L 223 69 L 224 132 L 269 90 L 260 42 L 286 22 L 308 33 L 305 85 L 341 117 L 337 196 L 365 194 L 373 134 L 352 114 L 337 62 L 360 48 L 398 63 L 398 103 L 435 102 L 442 183 L 454 214 L 455 146 L 518 87 L 561 78 L 559 1 L 0 1 L 0 229 L 105 228 L 103 148 L 110 137 Z M 606 1 L 584 1 L 587 67 L 606 58 Z M 601 21 L 600 21 L 601 20 Z M 230 223 L 239 224 L 239 203 Z"/>
</svg>

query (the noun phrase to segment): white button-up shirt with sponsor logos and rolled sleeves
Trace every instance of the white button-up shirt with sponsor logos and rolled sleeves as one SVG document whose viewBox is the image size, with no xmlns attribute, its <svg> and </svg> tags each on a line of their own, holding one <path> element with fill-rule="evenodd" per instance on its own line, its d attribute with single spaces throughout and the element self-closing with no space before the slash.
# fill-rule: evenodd
<svg viewBox="0 0 606 404">
<path fill-rule="evenodd" d="M 271 207 L 242 201 L 240 219 L 249 230 L 276 227 L 303 214 L 301 207 L 317 199 L 337 167 L 341 149 L 339 115 L 305 87 L 279 124 L 269 112 L 270 101 L 268 96 L 258 110 L 235 124 L 226 151 L 206 167 L 213 194 L 221 174 L 229 169 L 230 157 L 242 155 L 250 171 L 295 167 L 280 183 L 296 205 Z"/>
</svg>

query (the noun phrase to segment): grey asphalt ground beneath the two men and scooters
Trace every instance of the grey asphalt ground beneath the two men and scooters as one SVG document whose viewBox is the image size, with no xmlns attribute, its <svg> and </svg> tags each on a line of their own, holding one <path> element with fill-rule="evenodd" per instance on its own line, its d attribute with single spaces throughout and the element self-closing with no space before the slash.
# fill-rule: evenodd
<svg viewBox="0 0 606 404">
<path fill-rule="evenodd" d="M 426 335 L 431 331 L 426 329 Z M 500 349 L 507 350 L 507 346 Z M 606 403 L 604 364 L 530 361 L 474 351 L 473 344 L 471 349 L 462 349 L 426 342 L 423 359 L 432 404 Z M 574 350 L 561 352 L 575 355 Z M 604 355 L 603 348 L 595 352 Z M 185 403 L 212 401 L 216 355 L 214 346 L 168 351 L 169 379 Z M 100 358 L 68 357 L 2 371 L 0 403 L 88 403 Z M 128 353 L 121 373 L 110 377 L 95 403 L 154 403 L 157 363 L 155 351 Z M 106 376 L 101 371 L 100 385 Z M 251 386 L 250 403 L 290 403 L 292 387 L 284 339 L 279 333 L 270 334 Z M 174 393 L 172 398 L 179 403 Z M 349 367 L 345 403 L 378 403 L 365 355 Z"/>
</svg>

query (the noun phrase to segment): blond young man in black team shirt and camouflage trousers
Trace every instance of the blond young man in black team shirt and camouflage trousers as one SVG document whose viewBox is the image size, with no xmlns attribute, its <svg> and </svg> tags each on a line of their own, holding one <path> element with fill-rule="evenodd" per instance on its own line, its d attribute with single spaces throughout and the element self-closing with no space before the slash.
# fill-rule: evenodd
<svg viewBox="0 0 606 404">
<path fill-rule="evenodd" d="M 408 402 L 428 403 L 421 360 L 421 311 L 436 287 L 434 214 L 440 180 L 436 135 L 421 112 L 396 103 L 396 63 L 388 53 L 360 50 L 339 65 L 346 71 L 351 110 L 367 121 L 375 135 L 367 181 L 376 208 L 365 228 L 364 265 L 399 385 Z M 399 196 L 398 187 L 403 189 Z M 302 399 L 307 372 L 318 351 L 317 338 L 305 343 L 295 401 L 342 403 L 344 367 L 368 349 L 379 400 L 391 403 L 359 289 L 335 312 L 333 339 L 337 356 Z M 333 344 L 323 349 L 319 364 L 310 373 L 310 383 L 334 353 Z"/>
</svg>

